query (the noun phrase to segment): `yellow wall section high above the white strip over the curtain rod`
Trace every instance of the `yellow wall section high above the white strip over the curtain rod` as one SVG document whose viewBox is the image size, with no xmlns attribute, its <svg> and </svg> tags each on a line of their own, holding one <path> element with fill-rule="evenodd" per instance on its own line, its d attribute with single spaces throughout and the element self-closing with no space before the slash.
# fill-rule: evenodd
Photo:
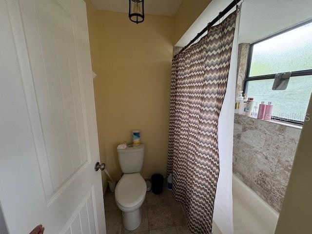
<svg viewBox="0 0 312 234">
<path fill-rule="evenodd" d="M 211 0 L 183 0 L 175 16 L 174 44 L 183 36 Z"/>
</svg>

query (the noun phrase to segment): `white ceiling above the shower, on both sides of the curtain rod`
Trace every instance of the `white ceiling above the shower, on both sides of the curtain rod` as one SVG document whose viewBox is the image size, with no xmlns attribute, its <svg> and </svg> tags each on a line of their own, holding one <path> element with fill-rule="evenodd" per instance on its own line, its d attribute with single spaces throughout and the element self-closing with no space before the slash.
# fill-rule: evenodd
<svg viewBox="0 0 312 234">
<path fill-rule="evenodd" d="M 186 45 L 231 1 L 212 0 L 176 46 Z M 312 0 L 244 0 L 238 41 L 251 43 L 311 18 Z"/>
</svg>

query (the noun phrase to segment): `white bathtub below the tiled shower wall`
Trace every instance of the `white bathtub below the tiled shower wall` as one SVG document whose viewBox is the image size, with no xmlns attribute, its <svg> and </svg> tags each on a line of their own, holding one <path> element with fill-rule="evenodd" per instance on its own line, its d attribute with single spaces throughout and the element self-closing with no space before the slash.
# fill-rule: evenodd
<svg viewBox="0 0 312 234">
<path fill-rule="evenodd" d="M 268 203 L 233 175 L 234 234 L 274 234 L 278 215 Z M 222 234 L 215 222 L 212 233 Z"/>
</svg>

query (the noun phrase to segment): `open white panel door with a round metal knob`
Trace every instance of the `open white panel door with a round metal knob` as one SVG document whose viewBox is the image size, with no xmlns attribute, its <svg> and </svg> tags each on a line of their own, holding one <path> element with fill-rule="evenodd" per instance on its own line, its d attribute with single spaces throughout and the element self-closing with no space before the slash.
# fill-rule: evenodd
<svg viewBox="0 0 312 234">
<path fill-rule="evenodd" d="M 0 206 L 10 234 L 105 234 L 86 6 L 0 0 Z"/>
</svg>

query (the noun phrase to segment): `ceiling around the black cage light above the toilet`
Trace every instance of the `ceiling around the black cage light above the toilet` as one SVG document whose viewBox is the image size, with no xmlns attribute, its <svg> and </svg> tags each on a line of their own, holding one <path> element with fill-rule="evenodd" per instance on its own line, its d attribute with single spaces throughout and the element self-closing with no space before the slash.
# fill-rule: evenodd
<svg viewBox="0 0 312 234">
<path fill-rule="evenodd" d="M 129 0 L 91 0 L 98 10 L 129 11 Z M 175 16 L 182 0 L 144 0 L 144 14 Z"/>
</svg>

